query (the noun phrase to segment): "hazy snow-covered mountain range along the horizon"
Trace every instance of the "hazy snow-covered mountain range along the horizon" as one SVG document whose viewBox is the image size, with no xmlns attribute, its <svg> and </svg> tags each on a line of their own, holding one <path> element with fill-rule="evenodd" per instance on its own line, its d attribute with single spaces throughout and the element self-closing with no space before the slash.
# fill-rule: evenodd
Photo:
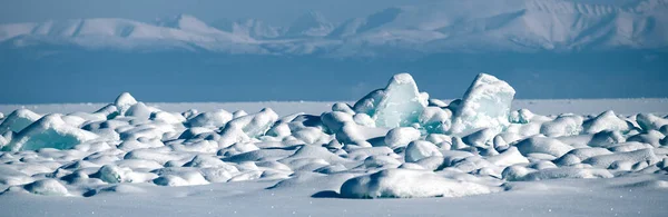
<svg viewBox="0 0 668 217">
<path fill-rule="evenodd" d="M 188 14 L 0 24 L 1 49 L 183 50 L 379 57 L 399 53 L 668 48 L 668 0 L 466 0 L 387 8 L 342 23 L 310 11 L 288 27 Z"/>
</svg>

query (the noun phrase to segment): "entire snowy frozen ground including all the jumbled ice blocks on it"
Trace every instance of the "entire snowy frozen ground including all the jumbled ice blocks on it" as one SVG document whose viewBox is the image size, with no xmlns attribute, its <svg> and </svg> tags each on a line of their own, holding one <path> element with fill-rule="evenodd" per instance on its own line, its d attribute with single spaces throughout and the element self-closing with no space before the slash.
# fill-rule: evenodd
<svg viewBox="0 0 668 217">
<path fill-rule="evenodd" d="M 668 214 L 667 99 L 514 93 L 0 106 L 2 216 Z"/>
</svg>

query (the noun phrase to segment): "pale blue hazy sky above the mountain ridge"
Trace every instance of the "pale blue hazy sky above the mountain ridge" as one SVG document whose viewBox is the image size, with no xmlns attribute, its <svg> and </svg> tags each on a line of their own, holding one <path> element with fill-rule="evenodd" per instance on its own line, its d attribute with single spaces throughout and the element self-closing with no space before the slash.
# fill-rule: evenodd
<svg viewBox="0 0 668 217">
<path fill-rule="evenodd" d="M 151 21 L 189 13 L 204 21 L 257 18 L 287 24 L 308 10 L 333 22 L 363 17 L 392 6 L 433 0 L 0 0 L 0 22 L 75 18 L 128 18 Z"/>
</svg>

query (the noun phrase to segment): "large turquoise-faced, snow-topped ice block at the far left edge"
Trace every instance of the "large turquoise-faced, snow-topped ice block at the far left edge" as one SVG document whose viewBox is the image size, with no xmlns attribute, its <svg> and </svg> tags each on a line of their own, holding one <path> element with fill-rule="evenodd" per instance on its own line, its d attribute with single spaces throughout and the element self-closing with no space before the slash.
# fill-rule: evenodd
<svg viewBox="0 0 668 217">
<path fill-rule="evenodd" d="M 96 138 L 90 131 L 67 125 L 60 115 L 47 115 L 21 130 L 2 150 L 70 149 Z"/>
</svg>

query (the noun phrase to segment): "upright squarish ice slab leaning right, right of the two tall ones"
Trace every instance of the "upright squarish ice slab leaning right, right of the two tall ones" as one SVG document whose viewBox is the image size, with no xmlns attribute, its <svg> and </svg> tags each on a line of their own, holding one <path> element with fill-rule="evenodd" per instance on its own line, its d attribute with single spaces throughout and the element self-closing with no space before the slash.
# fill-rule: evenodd
<svg viewBox="0 0 668 217">
<path fill-rule="evenodd" d="M 468 135 L 490 128 L 500 132 L 510 125 L 508 115 L 514 89 L 497 77 L 480 73 L 454 110 L 452 135 Z"/>
</svg>

